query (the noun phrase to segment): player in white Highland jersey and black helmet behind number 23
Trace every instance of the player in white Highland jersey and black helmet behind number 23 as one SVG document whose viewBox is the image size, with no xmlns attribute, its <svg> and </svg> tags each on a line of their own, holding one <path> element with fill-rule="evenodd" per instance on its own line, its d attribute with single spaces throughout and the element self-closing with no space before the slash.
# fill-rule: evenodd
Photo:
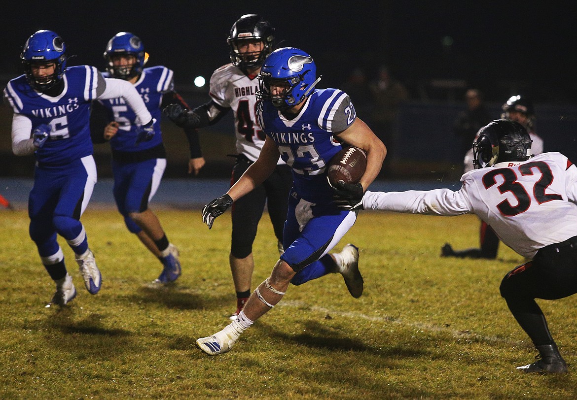
<svg viewBox="0 0 577 400">
<path fill-rule="evenodd" d="M 178 126 L 203 127 L 218 122 L 226 112 L 233 110 L 237 160 L 231 176 L 232 186 L 256 161 L 264 145 L 265 134 L 256 119 L 254 94 L 258 89 L 256 77 L 260 67 L 273 50 L 274 29 L 263 17 L 246 14 L 234 22 L 227 43 L 231 63 L 212 74 L 211 101 L 192 111 L 183 110 L 179 104 L 171 104 L 164 109 L 164 114 Z M 282 254 L 283 225 L 292 182 L 290 167 L 278 159 L 271 176 L 235 202 L 229 262 L 237 293 L 237 309 L 231 319 L 237 318 L 250 296 L 254 270 L 252 246 L 265 203 Z"/>
</svg>

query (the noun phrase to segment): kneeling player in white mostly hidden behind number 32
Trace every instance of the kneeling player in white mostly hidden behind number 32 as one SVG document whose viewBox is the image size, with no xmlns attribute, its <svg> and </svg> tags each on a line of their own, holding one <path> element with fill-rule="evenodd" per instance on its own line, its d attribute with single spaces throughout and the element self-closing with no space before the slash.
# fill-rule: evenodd
<svg viewBox="0 0 577 400">
<path fill-rule="evenodd" d="M 543 139 L 539 137 L 534 130 L 535 111 L 533 102 L 524 96 L 511 96 L 501 107 L 503 110 L 501 114 L 502 119 L 511 119 L 522 124 L 531 138 L 531 154 L 537 156 L 543 152 Z M 475 141 L 477 140 L 475 136 Z M 473 169 L 473 147 L 465 154 L 464 158 L 464 172 L 469 172 Z M 481 220 L 481 228 L 479 229 L 480 247 L 466 248 L 464 250 L 453 250 L 451 244 L 445 243 L 441 248 L 441 256 L 443 257 L 460 257 L 460 258 L 497 258 L 497 251 L 499 251 L 499 237 L 495 235 L 493 229 Z"/>
</svg>

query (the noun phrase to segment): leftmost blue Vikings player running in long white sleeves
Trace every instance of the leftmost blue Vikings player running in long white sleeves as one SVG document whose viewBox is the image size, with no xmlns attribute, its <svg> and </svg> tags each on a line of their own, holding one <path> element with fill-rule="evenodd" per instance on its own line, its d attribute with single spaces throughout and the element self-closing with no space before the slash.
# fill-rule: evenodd
<svg viewBox="0 0 577 400">
<path fill-rule="evenodd" d="M 25 73 L 4 89 L 14 111 L 12 150 L 17 156 L 33 153 L 36 158 L 28 198 L 29 234 L 56 283 L 48 305 L 63 306 L 74 299 L 76 289 L 57 235 L 74 251 L 88 292 L 98 293 L 102 282 L 80 222 L 96 183 L 89 130 L 92 100 L 122 97 L 138 116 L 139 141 L 153 138 L 155 120 L 128 82 L 106 79 L 87 65 L 67 67 L 66 46 L 52 31 L 33 33 L 21 61 Z"/>
</svg>

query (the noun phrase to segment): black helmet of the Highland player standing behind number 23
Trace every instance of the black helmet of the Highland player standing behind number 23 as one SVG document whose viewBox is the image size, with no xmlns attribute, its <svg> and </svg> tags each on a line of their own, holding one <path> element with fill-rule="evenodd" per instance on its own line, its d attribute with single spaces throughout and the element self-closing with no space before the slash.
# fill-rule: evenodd
<svg viewBox="0 0 577 400">
<path fill-rule="evenodd" d="M 238 50 L 242 40 L 261 40 L 264 48 L 262 51 L 243 53 Z M 263 61 L 272 52 L 275 41 L 275 29 L 268 21 L 258 14 L 245 14 L 234 22 L 230 34 L 226 40 L 230 46 L 230 61 L 241 70 L 260 67 Z"/>
</svg>

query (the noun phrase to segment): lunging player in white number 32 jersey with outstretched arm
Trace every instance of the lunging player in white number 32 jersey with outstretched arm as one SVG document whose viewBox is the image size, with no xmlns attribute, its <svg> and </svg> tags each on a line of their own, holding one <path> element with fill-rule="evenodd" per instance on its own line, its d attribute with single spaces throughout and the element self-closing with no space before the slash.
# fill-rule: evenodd
<svg viewBox="0 0 577 400">
<path fill-rule="evenodd" d="M 494 120 L 473 145 L 476 169 L 463 174 L 458 191 L 367 191 L 345 209 L 458 216 L 476 214 L 499 239 L 531 259 L 501 282 L 501 296 L 529 335 L 541 359 L 524 372 L 567 372 L 545 316 L 534 299 L 577 293 L 577 167 L 561 153 L 531 157 L 531 138 L 518 122 Z"/>
</svg>

